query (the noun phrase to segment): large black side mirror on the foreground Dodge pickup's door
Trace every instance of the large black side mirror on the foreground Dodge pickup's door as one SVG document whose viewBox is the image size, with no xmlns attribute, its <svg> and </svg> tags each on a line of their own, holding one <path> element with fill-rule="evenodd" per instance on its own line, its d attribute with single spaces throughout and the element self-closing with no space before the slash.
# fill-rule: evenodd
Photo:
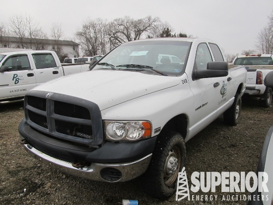
<svg viewBox="0 0 273 205">
<path fill-rule="evenodd" d="M 224 61 L 208 62 L 206 70 L 196 70 L 194 79 L 225 77 L 228 75 L 228 63 Z"/>
</svg>

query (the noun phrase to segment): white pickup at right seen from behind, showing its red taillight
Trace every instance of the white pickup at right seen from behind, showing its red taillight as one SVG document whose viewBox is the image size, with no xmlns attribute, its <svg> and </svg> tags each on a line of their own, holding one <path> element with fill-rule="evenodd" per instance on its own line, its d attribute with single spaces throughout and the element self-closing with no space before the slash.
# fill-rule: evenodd
<svg viewBox="0 0 273 205">
<path fill-rule="evenodd" d="M 251 97 L 258 97 L 264 107 L 272 103 L 272 88 L 264 85 L 264 80 L 269 72 L 273 70 L 273 55 L 253 54 L 235 57 L 234 65 L 245 65 L 247 69 L 246 94 Z"/>
</svg>

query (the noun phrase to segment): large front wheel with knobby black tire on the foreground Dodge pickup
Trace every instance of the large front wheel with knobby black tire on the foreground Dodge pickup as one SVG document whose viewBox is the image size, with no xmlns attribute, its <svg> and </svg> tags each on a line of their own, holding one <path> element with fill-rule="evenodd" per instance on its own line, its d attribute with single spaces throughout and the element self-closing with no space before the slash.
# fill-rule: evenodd
<svg viewBox="0 0 273 205">
<path fill-rule="evenodd" d="M 185 166 L 186 146 L 183 136 L 162 130 L 156 140 L 149 167 L 138 178 L 143 191 L 157 199 L 167 199 L 176 192 L 178 173 Z"/>
</svg>

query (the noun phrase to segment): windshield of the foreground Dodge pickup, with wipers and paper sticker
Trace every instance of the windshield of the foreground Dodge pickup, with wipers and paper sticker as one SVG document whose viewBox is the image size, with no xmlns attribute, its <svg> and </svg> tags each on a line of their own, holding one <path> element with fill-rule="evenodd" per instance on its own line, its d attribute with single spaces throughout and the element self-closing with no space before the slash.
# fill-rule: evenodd
<svg viewBox="0 0 273 205">
<path fill-rule="evenodd" d="M 190 46 L 191 42 L 170 40 L 124 43 L 101 59 L 92 70 L 109 69 L 180 76 L 184 73 L 184 61 Z"/>
</svg>

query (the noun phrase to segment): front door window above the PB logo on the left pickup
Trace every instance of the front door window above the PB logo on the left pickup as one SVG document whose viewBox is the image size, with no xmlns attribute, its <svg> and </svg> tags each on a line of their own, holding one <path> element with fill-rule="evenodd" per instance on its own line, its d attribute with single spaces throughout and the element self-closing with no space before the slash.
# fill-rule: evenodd
<svg viewBox="0 0 273 205">
<path fill-rule="evenodd" d="M 31 69 L 26 55 L 11 56 L 3 65 L 8 67 L 8 71 L 24 71 Z"/>
</svg>

